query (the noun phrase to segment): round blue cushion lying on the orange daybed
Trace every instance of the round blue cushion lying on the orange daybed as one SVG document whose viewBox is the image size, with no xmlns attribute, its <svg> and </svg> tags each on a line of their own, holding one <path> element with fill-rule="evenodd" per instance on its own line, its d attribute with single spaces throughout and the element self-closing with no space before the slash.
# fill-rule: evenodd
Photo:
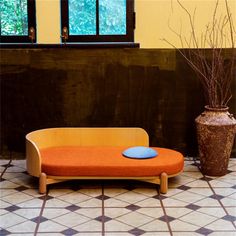
<svg viewBox="0 0 236 236">
<path fill-rule="evenodd" d="M 135 159 L 153 158 L 158 155 L 157 151 L 143 146 L 131 147 L 122 152 L 123 156 Z"/>
</svg>

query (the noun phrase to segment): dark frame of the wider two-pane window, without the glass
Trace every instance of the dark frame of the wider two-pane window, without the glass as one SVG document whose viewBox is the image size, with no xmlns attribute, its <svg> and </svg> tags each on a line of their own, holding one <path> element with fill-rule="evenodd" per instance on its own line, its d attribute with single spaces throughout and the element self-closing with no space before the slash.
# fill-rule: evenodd
<svg viewBox="0 0 236 236">
<path fill-rule="evenodd" d="M 134 0 L 126 0 L 126 34 L 125 35 L 70 35 L 69 32 L 69 4 L 68 0 L 61 1 L 61 33 L 63 34 L 63 28 L 68 29 L 68 38 L 66 42 L 72 43 L 124 43 L 134 42 L 134 29 L 135 29 L 135 12 L 134 12 Z M 98 1 L 96 0 L 96 29 L 98 32 Z M 63 40 L 62 40 L 63 42 Z"/>
</svg>

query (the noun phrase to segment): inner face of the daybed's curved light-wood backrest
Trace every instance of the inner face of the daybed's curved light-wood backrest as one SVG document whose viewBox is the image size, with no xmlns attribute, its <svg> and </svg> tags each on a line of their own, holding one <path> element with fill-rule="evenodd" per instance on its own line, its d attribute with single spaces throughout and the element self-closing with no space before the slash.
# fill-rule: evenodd
<svg viewBox="0 0 236 236">
<path fill-rule="evenodd" d="M 26 139 L 41 148 L 57 146 L 149 146 L 142 128 L 49 128 L 33 131 Z"/>
</svg>

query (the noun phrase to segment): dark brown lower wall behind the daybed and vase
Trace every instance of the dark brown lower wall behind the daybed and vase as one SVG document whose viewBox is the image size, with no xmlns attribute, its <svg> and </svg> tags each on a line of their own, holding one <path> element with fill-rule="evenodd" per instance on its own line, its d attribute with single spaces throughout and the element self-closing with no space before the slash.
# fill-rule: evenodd
<svg viewBox="0 0 236 236">
<path fill-rule="evenodd" d="M 194 119 L 204 98 L 175 50 L 1 49 L 1 149 L 24 151 L 48 127 L 146 129 L 150 145 L 197 155 Z M 236 79 L 230 112 L 236 114 Z M 233 155 L 235 156 L 235 146 Z"/>
</svg>

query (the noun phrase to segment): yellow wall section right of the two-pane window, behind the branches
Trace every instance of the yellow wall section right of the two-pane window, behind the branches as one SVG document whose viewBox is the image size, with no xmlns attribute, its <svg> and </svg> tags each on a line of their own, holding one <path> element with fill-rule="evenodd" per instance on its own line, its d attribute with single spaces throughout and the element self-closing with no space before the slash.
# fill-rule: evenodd
<svg viewBox="0 0 236 236">
<path fill-rule="evenodd" d="M 201 34 L 205 31 L 207 23 L 212 20 L 216 0 L 180 0 L 180 2 L 191 14 L 196 9 L 195 27 L 200 41 Z M 236 27 L 236 0 L 228 0 L 228 4 Z M 181 32 L 189 40 L 189 20 L 186 12 L 177 4 L 176 0 L 136 0 L 135 6 L 137 15 L 135 41 L 140 42 L 141 47 L 171 47 L 161 40 L 163 38 L 167 39 L 176 47 L 182 47 L 179 38 L 171 31 L 170 27 L 176 33 Z M 225 1 L 220 0 L 217 14 L 218 19 L 223 15 L 226 15 Z"/>
</svg>

